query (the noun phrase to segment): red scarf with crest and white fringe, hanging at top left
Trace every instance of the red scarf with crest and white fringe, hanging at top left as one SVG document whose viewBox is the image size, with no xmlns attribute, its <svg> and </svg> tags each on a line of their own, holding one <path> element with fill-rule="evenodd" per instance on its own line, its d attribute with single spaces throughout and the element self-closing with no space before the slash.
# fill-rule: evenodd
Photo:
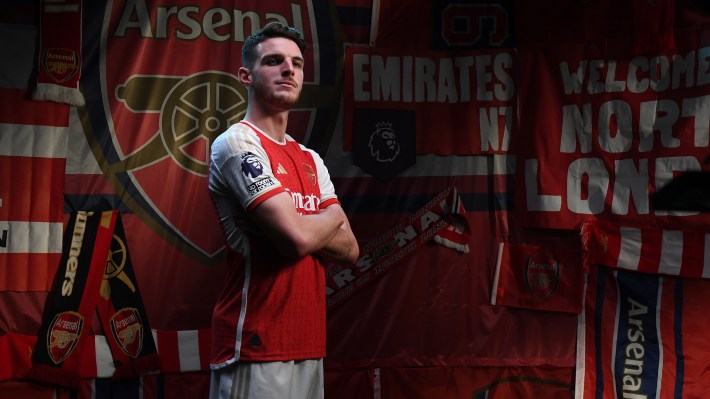
<svg viewBox="0 0 710 399">
<path fill-rule="evenodd" d="M 81 75 L 81 0 L 42 0 L 39 69 L 35 100 L 83 106 Z"/>
</svg>

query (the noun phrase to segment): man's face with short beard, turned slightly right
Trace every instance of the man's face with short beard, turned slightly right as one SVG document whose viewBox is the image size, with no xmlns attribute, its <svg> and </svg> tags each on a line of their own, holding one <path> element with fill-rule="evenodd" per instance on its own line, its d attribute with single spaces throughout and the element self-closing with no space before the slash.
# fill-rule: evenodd
<svg viewBox="0 0 710 399">
<path fill-rule="evenodd" d="M 256 46 L 251 69 L 254 100 L 279 110 L 290 109 L 303 88 L 303 54 L 296 43 L 276 37 Z"/>
</svg>

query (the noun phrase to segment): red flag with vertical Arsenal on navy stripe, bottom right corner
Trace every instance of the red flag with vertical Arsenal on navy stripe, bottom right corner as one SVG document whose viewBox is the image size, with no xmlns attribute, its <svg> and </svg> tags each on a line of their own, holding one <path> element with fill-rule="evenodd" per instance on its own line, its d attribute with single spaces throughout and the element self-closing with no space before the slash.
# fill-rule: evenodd
<svg viewBox="0 0 710 399">
<path fill-rule="evenodd" d="M 577 334 L 576 398 L 707 396 L 710 282 L 592 267 Z"/>
</svg>

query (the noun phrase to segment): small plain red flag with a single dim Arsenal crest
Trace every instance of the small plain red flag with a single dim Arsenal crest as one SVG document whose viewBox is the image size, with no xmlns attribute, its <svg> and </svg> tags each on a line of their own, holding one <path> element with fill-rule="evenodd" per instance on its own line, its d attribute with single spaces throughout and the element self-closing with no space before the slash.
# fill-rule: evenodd
<svg viewBox="0 0 710 399">
<path fill-rule="evenodd" d="M 580 313 L 583 296 L 579 248 L 498 244 L 491 305 Z"/>
</svg>

